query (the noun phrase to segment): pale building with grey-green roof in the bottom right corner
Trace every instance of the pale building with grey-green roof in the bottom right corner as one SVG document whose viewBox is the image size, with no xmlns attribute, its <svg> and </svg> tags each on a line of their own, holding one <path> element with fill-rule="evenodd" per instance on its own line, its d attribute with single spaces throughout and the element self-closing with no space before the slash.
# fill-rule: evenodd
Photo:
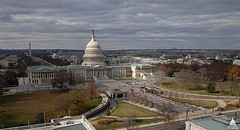
<svg viewBox="0 0 240 130">
<path fill-rule="evenodd" d="M 239 130 L 240 122 L 226 116 L 216 116 L 186 122 L 185 130 Z"/>
</svg>

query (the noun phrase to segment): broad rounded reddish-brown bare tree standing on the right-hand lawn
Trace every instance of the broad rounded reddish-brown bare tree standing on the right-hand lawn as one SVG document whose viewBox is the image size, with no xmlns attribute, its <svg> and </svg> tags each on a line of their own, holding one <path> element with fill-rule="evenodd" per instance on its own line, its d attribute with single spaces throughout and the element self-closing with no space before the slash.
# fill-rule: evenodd
<svg viewBox="0 0 240 130">
<path fill-rule="evenodd" d="M 189 69 L 182 69 L 180 72 L 175 73 L 175 77 L 178 80 L 179 84 L 187 89 L 187 86 L 190 86 L 195 82 L 196 73 Z"/>
</svg>

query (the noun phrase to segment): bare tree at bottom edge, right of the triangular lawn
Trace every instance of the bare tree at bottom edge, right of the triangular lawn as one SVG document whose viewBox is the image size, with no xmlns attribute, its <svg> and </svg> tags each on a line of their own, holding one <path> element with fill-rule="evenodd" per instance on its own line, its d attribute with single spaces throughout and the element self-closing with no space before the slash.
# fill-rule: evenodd
<svg viewBox="0 0 240 130">
<path fill-rule="evenodd" d="M 160 116 L 163 118 L 164 130 L 166 130 L 168 125 L 178 118 L 179 113 L 171 103 L 163 102 L 161 106 L 158 105 L 156 108 L 161 112 Z"/>
</svg>

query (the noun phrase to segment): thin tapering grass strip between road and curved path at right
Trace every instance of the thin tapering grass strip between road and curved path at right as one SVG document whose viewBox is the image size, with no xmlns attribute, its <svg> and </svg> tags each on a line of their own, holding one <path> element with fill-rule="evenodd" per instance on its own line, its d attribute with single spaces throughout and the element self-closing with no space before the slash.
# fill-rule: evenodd
<svg viewBox="0 0 240 130">
<path fill-rule="evenodd" d="M 188 100 L 188 99 L 174 99 L 179 102 L 188 103 L 195 106 L 201 106 L 204 108 L 214 108 L 218 105 L 216 101 L 207 101 L 207 100 Z"/>
</svg>

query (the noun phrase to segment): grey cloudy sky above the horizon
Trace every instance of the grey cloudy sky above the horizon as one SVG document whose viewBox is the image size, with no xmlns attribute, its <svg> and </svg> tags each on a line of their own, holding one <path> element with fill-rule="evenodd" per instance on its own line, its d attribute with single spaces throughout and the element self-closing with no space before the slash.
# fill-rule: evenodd
<svg viewBox="0 0 240 130">
<path fill-rule="evenodd" d="M 239 49 L 240 0 L 0 0 L 0 49 Z"/>
</svg>

